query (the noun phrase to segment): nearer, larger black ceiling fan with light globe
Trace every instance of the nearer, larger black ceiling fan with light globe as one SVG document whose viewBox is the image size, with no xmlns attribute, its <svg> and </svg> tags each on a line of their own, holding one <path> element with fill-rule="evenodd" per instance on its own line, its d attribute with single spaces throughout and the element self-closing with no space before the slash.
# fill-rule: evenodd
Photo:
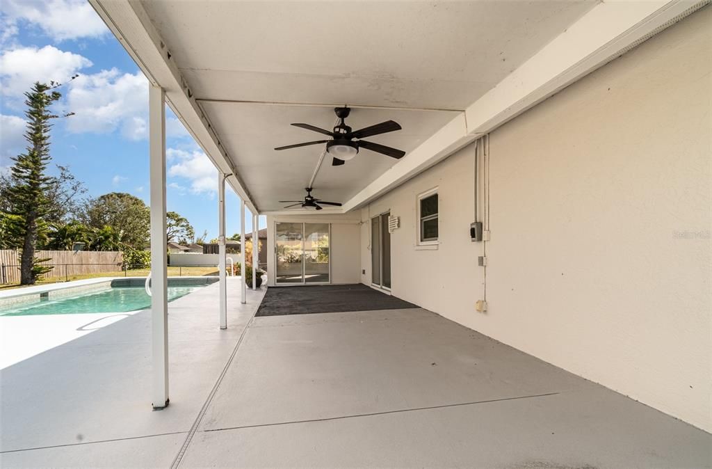
<svg viewBox="0 0 712 469">
<path fill-rule="evenodd" d="M 379 143 L 361 140 L 362 138 L 401 130 L 401 126 L 397 122 L 394 122 L 393 120 L 386 120 L 385 122 L 370 125 L 369 127 L 365 127 L 360 130 L 351 130 L 351 128 L 344 122 L 344 119 L 349 116 L 351 109 L 345 107 L 334 108 L 334 112 L 336 113 L 337 118 L 341 119 L 341 122 L 334 127 L 332 132 L 323 128 L 315 127 L 314 125 L 301 123 L 292 124 L 295 127 L 329 135 L 332 140 L 316 140 L 314 142 L 297 143 L 296 145 L 277 147 L 275 150 L 287 150 L 288 148 L 305 147 L 307 145 L 326 143 L 327 153 L 333 156 L 331 163 L 333 166 L 343 165 L 345 161 L 354 158 L 358 154 L 359 148 L 365 148 L 367 150 L 375 151 L 376 153 L 382 153 L 383 155 L 387 155 L 391 158 L 399 159 L 404 157 L 405 152 L 403 150 L 397 150 L 396 148 L 380 145 Z"/>
</svg>

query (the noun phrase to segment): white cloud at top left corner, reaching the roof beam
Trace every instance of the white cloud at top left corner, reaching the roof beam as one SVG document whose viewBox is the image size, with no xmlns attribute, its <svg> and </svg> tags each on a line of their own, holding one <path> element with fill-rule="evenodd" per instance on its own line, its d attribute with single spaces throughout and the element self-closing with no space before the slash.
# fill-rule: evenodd
<svg viewBox="0 0 712 469">
<path fill-rule="evenodd" d="M 16 34 L 17 24 L 36 25 L 55 41 L 98 37 L 109 29 L 85 0 L 3 0 L 4 36 Z"/>
</svg>

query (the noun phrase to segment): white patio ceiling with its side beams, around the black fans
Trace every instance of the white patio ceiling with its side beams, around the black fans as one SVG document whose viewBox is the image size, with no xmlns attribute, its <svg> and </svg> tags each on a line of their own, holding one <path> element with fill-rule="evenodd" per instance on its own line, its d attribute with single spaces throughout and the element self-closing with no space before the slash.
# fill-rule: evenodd
<svg viewBox="0 0 712 469">
<path fill-rule="evenodd" d="M 694 2 L 90 0 L 251 210 L 304 195 L 325 145 L 294 128 L 396 120 L 318 171 L 315 196 L 363 205 L 600 66 Z M 324 210 L 323 212 L 328 212 Z"/>
</svg>

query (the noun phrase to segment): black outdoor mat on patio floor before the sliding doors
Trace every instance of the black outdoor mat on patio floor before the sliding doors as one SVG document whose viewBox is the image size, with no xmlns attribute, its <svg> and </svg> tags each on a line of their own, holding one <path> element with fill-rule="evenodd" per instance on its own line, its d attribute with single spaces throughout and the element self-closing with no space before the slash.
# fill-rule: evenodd
<svg viewBox="0 0 712 469">
<path fill-rule="evenodd" d="M 362 284 L 271 287 L 255 316 L 417 308 Z"/>
</svg>

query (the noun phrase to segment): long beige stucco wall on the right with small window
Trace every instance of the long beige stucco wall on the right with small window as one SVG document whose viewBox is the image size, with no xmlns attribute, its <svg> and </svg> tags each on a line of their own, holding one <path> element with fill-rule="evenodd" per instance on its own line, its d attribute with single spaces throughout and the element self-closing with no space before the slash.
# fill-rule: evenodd
<svg viewBox="0 0 712 469">
<path fill-rule="evenodd" d="M 708 7 L 495 130 L 486 246 L 473 145 L 360 210 L 401 217 L 393 294 L 712 431 L 711 76 Z M 418 250 L 436 186 L 441 243 Z"/>
</svg>

